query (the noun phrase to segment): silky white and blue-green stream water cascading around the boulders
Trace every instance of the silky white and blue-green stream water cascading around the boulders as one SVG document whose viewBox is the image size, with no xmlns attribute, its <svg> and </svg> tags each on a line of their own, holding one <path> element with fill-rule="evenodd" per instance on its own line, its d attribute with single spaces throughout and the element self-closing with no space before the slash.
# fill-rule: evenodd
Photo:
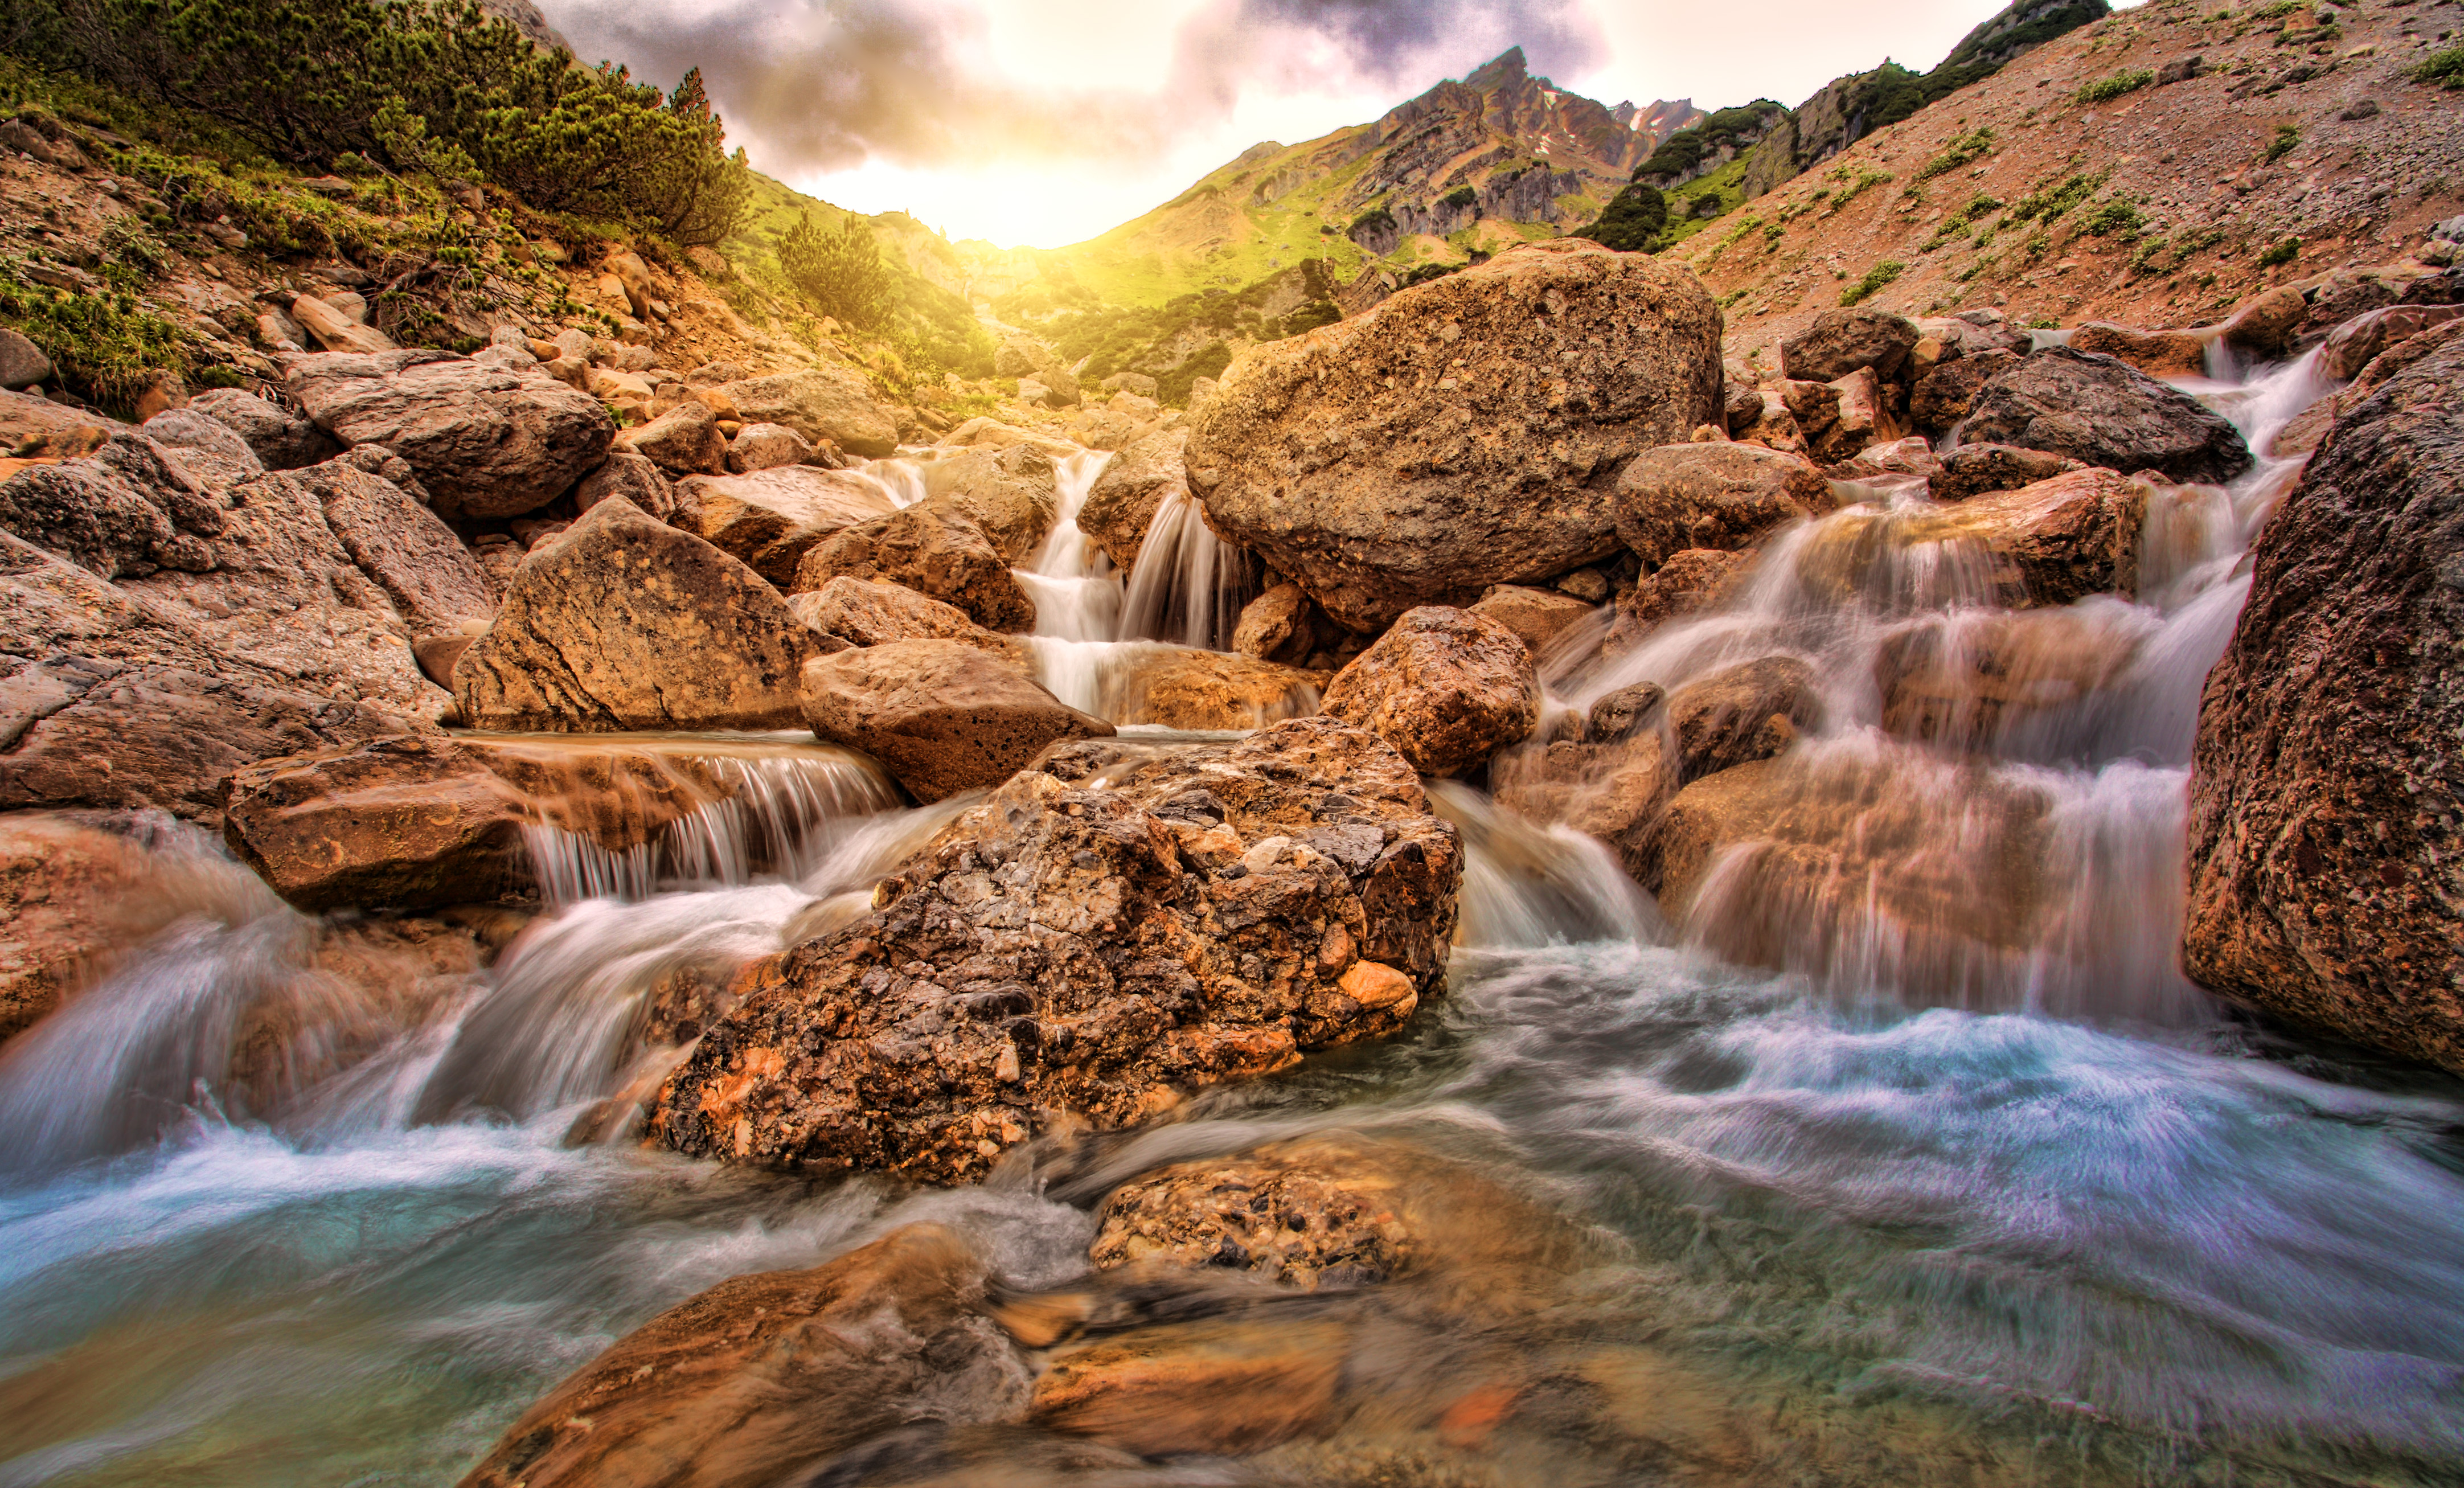
<svg viewBox="0 0 2464 1488">
<path fill-rule="evenodd" d="M 2213 397 L 2264 448 L 2319 392 L 2296 365 Z M 1062 648 L 1225 636 L 1205 604 L 1124 621 L 1146 601 L 1072 520 L 1099 461 L 1064 466 L 1035 564 L 1047 677 L 1089 697 L 1104 653 Z M 956 811 L 808 742 L 670 742 L 729 803 L 631 855 L 537 835 L 545 912 L 416 995 L 338 971 L 365 926 L 172 843 L 212 892 L 0 1049 L 0 1483 L 451 1483 L 724 1276 L 929 1217 L 1060 1286 L 1106 1180 L 1326 1128 L 1476 1153 L 1604 1227 L 1619 1259 L 1547 1325 L 1661 1360 L 1639 1409 L 1717 1441 L 1636 1463 L 1542 1417 L 1525 1456 L 1340 1481 L 2454 1483 L 2464 1089 L 2225 1015 L 2171 951 L 2198 685 L 2292 475 L 2161 500 L 2136 601 L 1996 611 L 1971 552 L 1902 540 L 1927 515 L 1902 490 L 1781 535 L 1631 655 L 1555 658 L 1555 707 L 1809 660 L 1826 714 L 1784 778 L 1848 867 L 1732 847 L 1678 934 L 1597 843 L 1437 786 L 1469 845 L 1449 995 L 1094 1170 L 917 1195 L 626 1141 L 690 1040 L 680 988 L 860 914 Z M 1222 564 L 1198 547 L 1175 584 Z M 1927 737 L 1875 682 L 1910 648 L 1949 677 Z M 2028 658 L 2025 687 L 1961 692 L 1979 648 Z"/>
</svg>

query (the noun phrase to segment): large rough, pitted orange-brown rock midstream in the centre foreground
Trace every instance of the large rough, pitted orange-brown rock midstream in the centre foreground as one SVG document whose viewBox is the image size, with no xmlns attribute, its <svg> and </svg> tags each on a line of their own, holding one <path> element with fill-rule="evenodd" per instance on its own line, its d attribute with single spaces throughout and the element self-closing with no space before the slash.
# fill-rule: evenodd
<svg viewBox="0 0 2464 1488">
<path fill-rule="evenodd" d="M 865 919 L 744 976 L 660 1091 L 668 1146 L 981 1175 L 1047 1121 L 1377 1037 L 1434 993 L 1461 840 L 1387 744 L 1069 744 L 951 823 Z"/>
</svg>

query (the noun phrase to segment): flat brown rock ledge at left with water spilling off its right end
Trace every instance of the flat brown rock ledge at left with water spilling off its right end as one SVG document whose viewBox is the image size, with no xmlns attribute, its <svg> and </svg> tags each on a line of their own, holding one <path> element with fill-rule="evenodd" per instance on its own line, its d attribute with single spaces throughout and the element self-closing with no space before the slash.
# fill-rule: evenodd
<svg viewBox="0 0 2464 1488">
<path fill-rule="evenodd" d="M 234 771 L 222 835 L 308 914 L 436 909 L 532 894 L 525 825 L 626 852 L 724 796 L 678 756 L 416 734 Z"/>
</svg>

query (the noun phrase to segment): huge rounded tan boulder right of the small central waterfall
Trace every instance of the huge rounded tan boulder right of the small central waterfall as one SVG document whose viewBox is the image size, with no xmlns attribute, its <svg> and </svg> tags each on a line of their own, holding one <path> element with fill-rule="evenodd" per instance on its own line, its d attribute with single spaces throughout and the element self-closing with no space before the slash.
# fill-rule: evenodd
<svg viewBox="0 0 2464 1488">
<path fill-rule="evenodd" d="M 1190 485 L 1217 532 L 1377 633 L 1616 552 L 1619 473 L 1720 419 L 1720 377 L 1690 271 L 1528 244 L 1242 352 L 1190 419 Z"/>
</svg>

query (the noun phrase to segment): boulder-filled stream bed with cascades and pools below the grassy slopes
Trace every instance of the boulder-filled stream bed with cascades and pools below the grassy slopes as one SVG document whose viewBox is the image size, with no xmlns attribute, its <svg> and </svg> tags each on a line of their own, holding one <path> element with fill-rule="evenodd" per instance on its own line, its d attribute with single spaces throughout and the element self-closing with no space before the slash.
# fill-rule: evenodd
<svg viewBox="0 0 2464 1488">
<path fill-rule="evenodd" d="M 2370 283 L 1749 360 L 1550 239 L 1101 446 L 537 318 L 0 394 L 0 1481 L 2452 1478 Z"/>
</svg>

